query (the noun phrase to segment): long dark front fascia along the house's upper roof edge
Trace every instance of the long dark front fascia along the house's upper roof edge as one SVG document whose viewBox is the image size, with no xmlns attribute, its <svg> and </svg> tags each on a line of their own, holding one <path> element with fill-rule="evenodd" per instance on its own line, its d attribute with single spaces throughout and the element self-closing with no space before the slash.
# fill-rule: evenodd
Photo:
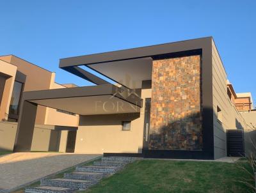
<svg viewBox="0 0 256 193">
<path fill-rule="evenodd" d="M 76 56 L 60 59 L 60 68 L 68 66 L 92 65 L 95 63 L 106 63 L 111 61 L 121 61 L 126 59 L 136 59 L 152 57 L 173 52 L 182 52 L 186 50 L 202 49 L 205 42 L 212 40 L 212 37 L 198 38 L 181 42 L 164 43 L 147 47 L 138 47 L 134 49 L 117 50 L 113 52 L 104 52 L 99 54 L 90 54 L 85 56 Z"/>
</svg>

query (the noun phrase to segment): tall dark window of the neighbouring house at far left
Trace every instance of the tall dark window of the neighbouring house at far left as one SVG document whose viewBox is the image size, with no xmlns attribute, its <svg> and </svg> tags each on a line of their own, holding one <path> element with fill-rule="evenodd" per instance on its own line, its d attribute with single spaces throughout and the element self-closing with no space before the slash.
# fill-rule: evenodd
<svg viewBox="0 0 256 193">
<path fill-rule="evenodd" d="M 18 115 L 22 83 L 15 81 L 13 84 L 12 98 L 10 102 L 9 114 Z"/>
</svg>

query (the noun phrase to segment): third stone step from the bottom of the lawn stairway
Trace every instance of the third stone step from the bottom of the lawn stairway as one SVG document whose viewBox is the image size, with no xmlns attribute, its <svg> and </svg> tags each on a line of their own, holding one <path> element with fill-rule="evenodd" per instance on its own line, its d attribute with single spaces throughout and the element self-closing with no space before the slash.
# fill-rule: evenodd
<svg viewBox="0 0 256 193">
<path fill-rule="evenodd" d="M 103 173 L 91 173 L 91 172 L 83 172 L 83 171 L 64 174 L 64 178 L 67 178 L 67 179 L 92 180 L 92 181 L 100 180 L 103 176 L 104 176 Z"/>
</svg>

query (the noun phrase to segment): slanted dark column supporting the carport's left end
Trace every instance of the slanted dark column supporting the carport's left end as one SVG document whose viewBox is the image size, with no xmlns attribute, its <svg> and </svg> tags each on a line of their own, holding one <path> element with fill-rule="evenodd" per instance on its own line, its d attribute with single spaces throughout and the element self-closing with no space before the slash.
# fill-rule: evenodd
<svg viewBox="0 0 256 193">
<path fill-rule="evenodd" d="M 37 104 L 26 100 L 20 105 L 19 123 L 13 152 L 30 151 L 36 120 Z"/>
</svg>

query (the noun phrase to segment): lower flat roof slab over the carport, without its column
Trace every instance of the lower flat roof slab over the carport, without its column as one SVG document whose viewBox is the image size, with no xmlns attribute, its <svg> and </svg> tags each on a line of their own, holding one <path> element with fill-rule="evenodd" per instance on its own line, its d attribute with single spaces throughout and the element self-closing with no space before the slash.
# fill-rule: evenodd
<svg viewBox="0 0 256 193">
<path fill-rule="evenodd" d="M 22 100 L 79 115 L 140 112 L 142 99 L 111 84 L 24 92 Z"/>
</svg>

